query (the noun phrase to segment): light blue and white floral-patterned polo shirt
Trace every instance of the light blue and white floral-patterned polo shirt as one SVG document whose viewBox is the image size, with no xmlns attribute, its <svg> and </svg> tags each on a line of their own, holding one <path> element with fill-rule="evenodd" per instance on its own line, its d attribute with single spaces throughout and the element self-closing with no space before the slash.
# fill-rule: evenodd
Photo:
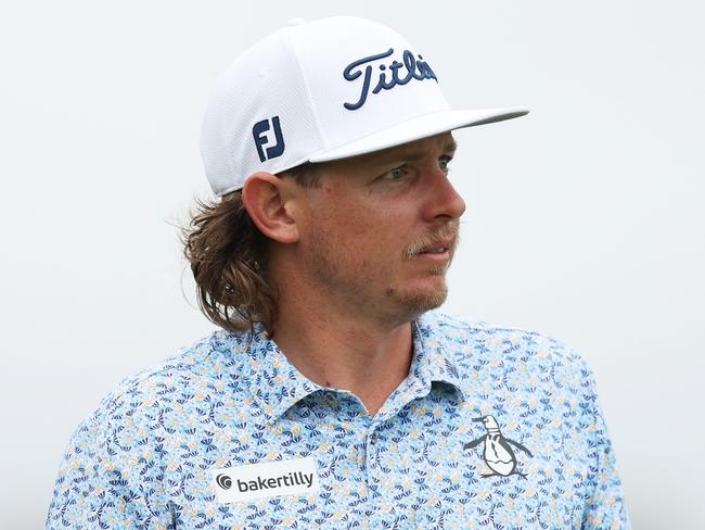
<svg viewBox="0 0 705 530">
<path fill-rule="evenodd" d="M 79 426 L 48 528 L 628 527 L 575 352 L 435 312 L 412 328 L 410 375 L 373 417 L 302 376 L 261 327 L 213 332 L 126 380 Z M 489 443 L 495 424 L 473 421 L 489 416 L 528 451 L 514 449 L 517 472 L 493 474 L 513 466 L 490 468 L 483 444 L 463 449 Z M 213 470 L 304 457 L 318 463 L 315 494 L 216 500 Z"/>
</svg>

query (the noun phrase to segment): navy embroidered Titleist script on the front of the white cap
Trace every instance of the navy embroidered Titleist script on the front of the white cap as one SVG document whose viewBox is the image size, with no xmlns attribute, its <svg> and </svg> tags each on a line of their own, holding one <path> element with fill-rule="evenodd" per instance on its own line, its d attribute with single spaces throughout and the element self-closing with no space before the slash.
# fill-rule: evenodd
<svg viewBox="0 0 705 530">
<path fill-rule="evenodd" d="M 364 77 L 362 78 L 362 87 L 358 101 L 356 103 L 343 103 L 343 106 L 345 106 L 348 111 L 357 111 L 364 104 L 364 102 L 368 100 L 368 96 L 370 94 L 370 85 L 372 81 L 373 67 L 370 63 L 386 59 L 393 53 L 394 48 L 389 48 L 384 53 L 377 53 L 376 55 L 358 59 L 345 67 L 343 71 L 343 77 L 345 77 L 348 81 L 355 81 L 362 75 L 363 72 Z M 413 53 L 411 53 L 409 50 L 403 50 L 403 53 L 401 54 L 402 62 L 399 62 L 395 59 L 392 61 L 392 64 L 380 64 L 377 81 L 372 89 L 372 93 L 379 93 L 382 90 L 392 90 L 397 85 L 406 85 L 412 79 L 434 79 L 436 83 L 438 83 L 436 74 L 434 74 L 434 71 L 431 70 L 428 63 L 423 61 L 423 56 L 416 55 L 416 58 L 414 58 Z M 388 78 L 387 74 L 389 75 Z"/>
</svg>

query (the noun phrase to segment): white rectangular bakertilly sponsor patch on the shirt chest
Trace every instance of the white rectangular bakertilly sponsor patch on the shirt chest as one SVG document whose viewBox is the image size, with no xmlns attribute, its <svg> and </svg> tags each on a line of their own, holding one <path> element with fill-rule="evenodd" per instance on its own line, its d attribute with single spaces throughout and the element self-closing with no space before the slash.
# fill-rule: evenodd
<svg viewBox="0 0 705 530">
<path fill-rule="evenodd" d="M 213 470 L 219 503 L 234 503 L 277 495 L 300 495 L 318 491 L 313 458 L 264 462 Z"/>
</svg>

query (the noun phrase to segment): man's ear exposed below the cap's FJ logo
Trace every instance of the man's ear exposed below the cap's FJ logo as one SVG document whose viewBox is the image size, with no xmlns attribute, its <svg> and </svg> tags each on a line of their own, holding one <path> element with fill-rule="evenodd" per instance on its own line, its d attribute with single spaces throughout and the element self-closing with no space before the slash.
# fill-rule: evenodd
<svg viewBox="0 0 705 530">
<path fill-rule="evenodd" d="M 242 201 L 253 223 L 280 243 L 298 240 L 298 227 L 292 215 L 294 186 L 289 179 L 260 172 L 251 175 L 242 188 Z"/>
</svg>

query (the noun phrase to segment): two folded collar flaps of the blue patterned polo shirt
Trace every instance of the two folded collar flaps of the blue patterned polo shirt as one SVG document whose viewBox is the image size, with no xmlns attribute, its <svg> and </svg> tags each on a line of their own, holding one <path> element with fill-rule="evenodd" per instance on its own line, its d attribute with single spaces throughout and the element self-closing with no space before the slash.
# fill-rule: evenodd
<svg viewBox="0 0 705 530">
<path fill-rule="evenodd" d="M 413 358 L 408 389 L 425 395 L 434 381 L 454 387 L 464 399 L 460 375 L 452 350 L 427 314 L 411 323 Z M 274 422 L 304 398 L 330 390 L 304 377 L 286 358 L 265 327 L 255 324 L 246 349 L 243 377 L 254 401 L 268 422 Z M 402 383 L 403 386 L 403 383 Z"/>
</svg>

